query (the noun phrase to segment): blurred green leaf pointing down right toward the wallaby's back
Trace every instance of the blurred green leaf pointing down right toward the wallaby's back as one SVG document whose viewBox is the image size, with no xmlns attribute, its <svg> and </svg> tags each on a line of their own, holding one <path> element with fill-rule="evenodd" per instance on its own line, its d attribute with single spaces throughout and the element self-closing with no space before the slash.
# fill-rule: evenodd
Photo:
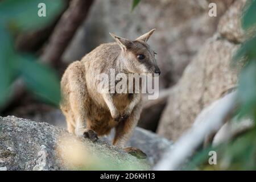
<svg viewBox="0 0 256 182">
<path fill-rule="evenodd" d="M 55 72 L 39 64 L 33 57 L 20 57 L 18 70 L 28 88 L 40 98 L 54 105 L 60 101 L 60 81 Z"/>
</svg>

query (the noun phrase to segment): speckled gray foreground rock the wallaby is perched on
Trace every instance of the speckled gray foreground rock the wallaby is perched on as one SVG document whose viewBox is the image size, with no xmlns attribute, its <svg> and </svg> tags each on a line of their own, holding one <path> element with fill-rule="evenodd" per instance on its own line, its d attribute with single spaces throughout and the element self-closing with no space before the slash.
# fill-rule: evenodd
<svg viewBox="0 0 256 182">
<path fill-rule="evenodd" d="M 0 117 L 1 170 L 150 168 L 147 160 L 137 159 L 106 142 L 77 138 L 45 122 Z"/>
</svg>

